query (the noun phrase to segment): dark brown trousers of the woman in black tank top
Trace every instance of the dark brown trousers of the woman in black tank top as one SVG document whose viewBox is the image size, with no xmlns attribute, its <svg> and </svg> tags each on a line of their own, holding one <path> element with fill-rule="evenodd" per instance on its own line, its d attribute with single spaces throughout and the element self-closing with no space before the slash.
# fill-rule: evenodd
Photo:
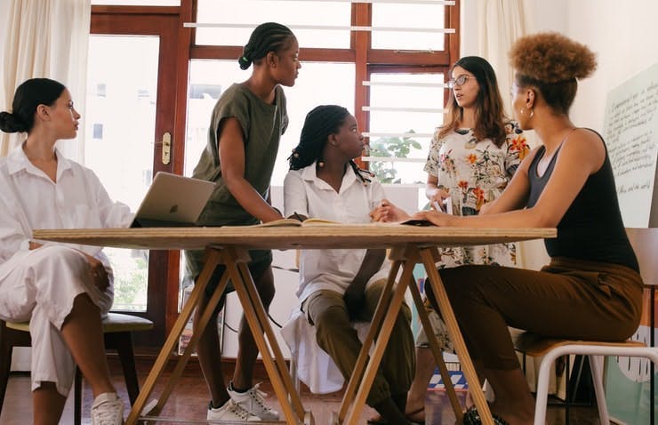
<svg viewBox="0 0 658 425">
<path fill-rule="evenodd" d="M 470 356 L 489 369 L 519 367 L 508 326 L 548 337 L 624 341 L 642 313 L 641 277 L 616 264 L 554 258 L 541 271 L 438 271 Z"/>
</svg>

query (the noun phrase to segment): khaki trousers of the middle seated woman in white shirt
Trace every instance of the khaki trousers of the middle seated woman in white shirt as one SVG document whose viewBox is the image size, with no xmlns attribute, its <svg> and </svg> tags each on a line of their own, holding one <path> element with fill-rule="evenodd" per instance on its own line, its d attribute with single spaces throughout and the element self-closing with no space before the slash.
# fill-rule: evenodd
<svg viewBox="0 0 658 425">
<path fill-rule="evenodd" d="M 365 309 L 352 316 L 357 317 L 357 320 L 372 320 L 385 284 L 385 280 L 380 280 L 369 285 L 365 290 Z M 349 323 L 349 312 L 342 294 L 317 291 L 303 302 L 302 310 L 306 312 L 309 323 L 316 327 L 317 345 L 332 357 L 345 380 L 349 380 L 362 344 L 357 331 Z M 406 397 L 413 380 L 414 367 L 411 312 L 403 304 L 366 403 L 374 406 L 391 396 Z"/>
</svg>

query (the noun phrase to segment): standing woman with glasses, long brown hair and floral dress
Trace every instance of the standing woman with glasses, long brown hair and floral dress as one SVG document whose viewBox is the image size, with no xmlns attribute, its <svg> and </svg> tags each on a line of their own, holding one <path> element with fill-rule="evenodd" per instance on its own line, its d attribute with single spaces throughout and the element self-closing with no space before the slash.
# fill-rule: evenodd
<svg viewBox="0 0 658 425">
<path fill-rule="evenodd" d="M 454 63 L 449 76 L 445 124 L 437 128 L 425 164 L 425 193 L 438 211 L 476 215 L 501 195 L 529 148 L 518 125 L 505 116 L 489 62 L 477 56 L 463 57 Z M 399 218 L 389 215 L 388 220 Z M 465 264 L 516 265 L 513 243 L 445 248 L 439 252 L 439 269 Z M 445 325 L 428 301 L 425 305 L 439 344 L 453 352 Z M 436 363 L 422 329 L 416 340 L 416 357 L 406 415 L 411 421 L 424 421 L 425 396 Z"/>
</svg>

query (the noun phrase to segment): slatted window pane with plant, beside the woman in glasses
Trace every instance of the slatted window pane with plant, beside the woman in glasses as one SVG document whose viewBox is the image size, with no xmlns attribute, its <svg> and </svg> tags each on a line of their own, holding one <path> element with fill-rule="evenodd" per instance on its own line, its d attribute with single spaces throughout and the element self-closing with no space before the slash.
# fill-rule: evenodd
<svg viewBox="0 0 658 425">
<path fill-rule="evenodd" d="M 424 183 L 422 171 L 431 134 L 443 123 L 439 110 L 381 111 L 377 108 L 440 109 L 444 105 L 443 74 L 373 74 L 370 87 L 370 169 L 385 183 Z M 408 84 L 408 85 L 377 85 Z M 414 85 L 415 84 L 415 85 Z M 416 133 L 410 135 L 409 133 Z M 405 134 L 405 135 L 403 135 Z M 389 158 L 389 159 L 384 159 Z M 394 161 L 393 158 L 401 158 Z"/>
</svg>

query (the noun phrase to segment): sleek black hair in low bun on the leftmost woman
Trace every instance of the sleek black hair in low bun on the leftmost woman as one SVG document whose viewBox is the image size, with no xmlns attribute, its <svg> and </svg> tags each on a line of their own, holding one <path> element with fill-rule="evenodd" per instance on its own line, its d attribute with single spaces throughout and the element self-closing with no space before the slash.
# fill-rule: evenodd
<svg viewBox="0 0 658 425">
<path fill-rule="evenodd" d="M 66 87 L 49 78 L 31 78 L 20 84 L 13 95 L 12 112 L 0 112 L 3 132 L 30 132 L 35 124 L 36 107 L 52 106 Z"/>
</svg>

